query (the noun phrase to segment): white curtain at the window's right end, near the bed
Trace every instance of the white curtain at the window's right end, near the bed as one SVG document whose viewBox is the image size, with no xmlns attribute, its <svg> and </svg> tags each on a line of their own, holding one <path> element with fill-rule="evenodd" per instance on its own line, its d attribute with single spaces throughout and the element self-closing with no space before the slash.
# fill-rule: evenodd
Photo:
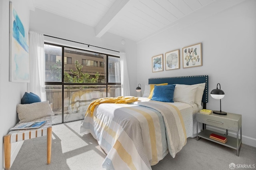
<svg viewBox="0 0 256 170">
<path fill-rule="evenodd" d="M 122 96 L 130 96 L 130 84 L 129 84 L 129 76 L 128 69 L 126 65 L 126 54 L 124 52 L 120 52 L 120 71 L 121 71 L 121 95 Z"/>
</svg>

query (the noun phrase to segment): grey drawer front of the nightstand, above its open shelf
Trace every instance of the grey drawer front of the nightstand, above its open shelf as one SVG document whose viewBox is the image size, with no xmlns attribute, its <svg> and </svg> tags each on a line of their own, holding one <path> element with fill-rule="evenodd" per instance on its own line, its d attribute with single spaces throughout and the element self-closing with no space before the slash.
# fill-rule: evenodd
<svg viewBox="0 0 256 170">
<path fill-rule="evenodd" d="M 213 113 L 210 115 L 205 115 L 198 113 L 196 115 L 196 119 L 200 123 L 204 123 L 207 125 L 212 125 L 220 128 L 225 128 L 228 130 L 233 130 L 238 132 L 240 129 L 240 124 L 238 120 L 230 119 L 227 115 L 214 115 Z"/>
</svg>

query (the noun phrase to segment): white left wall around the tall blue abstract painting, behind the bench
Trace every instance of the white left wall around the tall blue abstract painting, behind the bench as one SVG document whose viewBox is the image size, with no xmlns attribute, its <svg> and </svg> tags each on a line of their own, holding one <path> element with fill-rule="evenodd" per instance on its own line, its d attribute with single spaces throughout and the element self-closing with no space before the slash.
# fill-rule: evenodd
<svg viewBox="0 0 256 170">
<path fill-rule="evenodd" d="M 25 29 L 29 29 L 29 8 L 20 0 L 12 0 Z M 17 123 L 16 105 L 27 90 L 27 83 L 9 82 L 9 0 L 0 1 L 0 136 L 4 136 Z M 20 142 L 12 144 L 12 161 L 17 153 L 13 150 Z M 3 146 L 3 140 L 0 140 Z M 0 147 L 0 169 L 3 169 L 3 147 Z"/>
</svg>

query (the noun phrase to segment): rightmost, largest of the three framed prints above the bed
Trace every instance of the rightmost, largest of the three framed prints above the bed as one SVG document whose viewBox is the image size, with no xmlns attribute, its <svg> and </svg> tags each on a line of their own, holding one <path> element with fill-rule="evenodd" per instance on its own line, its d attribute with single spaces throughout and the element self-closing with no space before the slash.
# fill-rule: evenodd
<svg viewBox="0 0 256 170">
<path fill-rule="evenodd" d="M 183 68 L 202 66 L 202 43 L 182 48 Z"/>
</svg>

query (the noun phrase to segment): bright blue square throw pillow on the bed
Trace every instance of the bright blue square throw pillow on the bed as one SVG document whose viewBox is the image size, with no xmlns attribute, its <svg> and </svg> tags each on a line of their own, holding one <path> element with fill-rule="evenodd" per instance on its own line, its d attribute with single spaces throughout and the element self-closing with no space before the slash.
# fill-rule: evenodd
<svg viewBox="0 0 256 170">
<path fill-rule="evenodd" d="M 174 103 L 173 94 L 175 86 L 176 85 L 155 85 L 151 100 Z"/>
</svg>

